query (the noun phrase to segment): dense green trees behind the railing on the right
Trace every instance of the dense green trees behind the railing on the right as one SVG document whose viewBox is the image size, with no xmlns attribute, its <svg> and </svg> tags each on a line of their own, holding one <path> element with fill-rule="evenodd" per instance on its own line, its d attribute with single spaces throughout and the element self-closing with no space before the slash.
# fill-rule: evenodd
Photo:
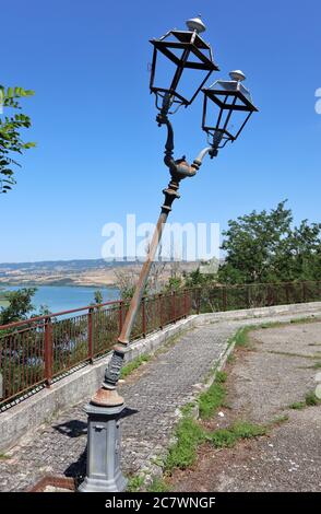
<svg viewBox="0 0 321 514">
<path fill-rule="evenodd" d="M 224 283 L 259 283 L 319 280 L 321 224 L 304 220 L 293 227 L 293 213 L 282 201 L 270 212 L 252 211 L 228 222 L 223 232 L 225 262 L 218 280 Z"/>
</svg>

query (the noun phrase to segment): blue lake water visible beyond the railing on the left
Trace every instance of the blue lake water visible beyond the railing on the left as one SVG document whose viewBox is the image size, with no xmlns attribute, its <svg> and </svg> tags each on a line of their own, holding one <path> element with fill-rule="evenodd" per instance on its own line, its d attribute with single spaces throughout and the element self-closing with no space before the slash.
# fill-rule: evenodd
<svg viewBox="0 0 321 514">
<path fill-rule="evenodd" d="M 7 291 L 16 291 L 25 285 L 5 287 Z M 87 288 L 79 285 L 38 285 L 33 305 L 36 311 L 40 305 L 46 305 L 51 313 L 70 311 L 72 308 L 84 307 L 94 302 L 95 291 L 102 291 L 104 302 L 119 299 L 117 288 Z"/>
</svg>

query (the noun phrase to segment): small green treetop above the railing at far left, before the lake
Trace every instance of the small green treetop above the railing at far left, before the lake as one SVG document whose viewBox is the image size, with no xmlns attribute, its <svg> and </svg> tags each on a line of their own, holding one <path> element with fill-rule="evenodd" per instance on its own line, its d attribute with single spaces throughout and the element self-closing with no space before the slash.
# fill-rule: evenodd
<svg viewBox="0 0 321 514">
<path fill-rule="evenodd" d="M 36 291 L 36 288 L 23 288 L 5 293 L 9 305 L 0 311 L 0 325 L 27 319 L 31 312 L 34 311 L 32 299 Z"/>
</svg>

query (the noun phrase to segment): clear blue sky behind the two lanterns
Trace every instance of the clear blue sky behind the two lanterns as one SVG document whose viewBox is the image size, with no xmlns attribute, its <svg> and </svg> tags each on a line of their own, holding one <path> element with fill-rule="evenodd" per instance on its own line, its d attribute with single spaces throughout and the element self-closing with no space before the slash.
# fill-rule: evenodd
<svg viewBox="0 0 321 514">
<path fill-rule="evenodd" d="M 288 198 L 295 220 L 320 220 L 321 4 L 16 0 L 1 7 L 1 80 L 24 102 L 37 142 L 17 186 L 0 196 L 0 261 L 99 258 L 107 222 L 154 222 L 168 182 L 164 128 L 148 94 L 151 37 L 202 14 L 224 78 L 248 77 L 260 113 L 240 139 L 181 186 L 171 221 L 217 222 Z M 213 79 L 214 80 L 214 79 Z M 173 122 L 176 156 L 205 145 L 201 95 Z"/>
</svg>

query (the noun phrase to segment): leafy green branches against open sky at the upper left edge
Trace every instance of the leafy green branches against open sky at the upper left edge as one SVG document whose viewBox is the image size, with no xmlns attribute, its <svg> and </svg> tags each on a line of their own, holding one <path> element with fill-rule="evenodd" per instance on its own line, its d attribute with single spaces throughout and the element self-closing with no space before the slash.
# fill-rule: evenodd
<svg viewBox="0 0 321 514">
<path fill-rule="evenodd" d="M 34 94 L 23 87 L 4 87 L 0 85 L 0 194 L 8 192 L 16 183 L 14 166 L 20 164 L 13 159 L 24 150 L 35 147 L 33 142 L 24 142 L 21 130 L 31 127 L 31 118 L 22 113 L 19 100 Z M 8 115 L 4 113 L 9 113 Z M 11 113 L 11 114 L 10 114 Z"/>
</svg>

